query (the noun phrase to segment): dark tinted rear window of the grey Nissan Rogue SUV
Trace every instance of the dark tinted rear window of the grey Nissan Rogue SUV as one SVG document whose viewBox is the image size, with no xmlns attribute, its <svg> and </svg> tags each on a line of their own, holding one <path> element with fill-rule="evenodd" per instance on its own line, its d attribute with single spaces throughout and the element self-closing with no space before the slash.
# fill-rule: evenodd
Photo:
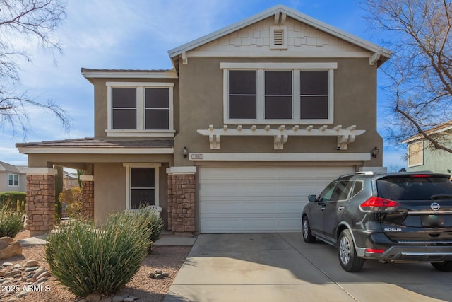
<svg viewBox="0 0 452 302">
<path fill-rule="evenodd" d="M 376 180 L 376 189 L 386 199 L 429 200 L 432 195 L 452 195 L 452 182 L 435 176 L 397 176 Z"/>
</svg>

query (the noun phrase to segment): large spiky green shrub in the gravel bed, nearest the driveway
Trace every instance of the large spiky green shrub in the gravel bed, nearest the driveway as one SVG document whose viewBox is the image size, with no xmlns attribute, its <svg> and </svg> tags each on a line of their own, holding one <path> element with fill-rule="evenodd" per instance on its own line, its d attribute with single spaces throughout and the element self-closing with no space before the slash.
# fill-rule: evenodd
<svg viewBox="0 0 452 302">
<path fill-rule="evenodd" d="M 100 229 L 74 220 L 47 237 L 52 274 L 76 296 L 111 294 L 140 269 L 150 245 L 150 216 L 114 214 Z"/>
</svg>

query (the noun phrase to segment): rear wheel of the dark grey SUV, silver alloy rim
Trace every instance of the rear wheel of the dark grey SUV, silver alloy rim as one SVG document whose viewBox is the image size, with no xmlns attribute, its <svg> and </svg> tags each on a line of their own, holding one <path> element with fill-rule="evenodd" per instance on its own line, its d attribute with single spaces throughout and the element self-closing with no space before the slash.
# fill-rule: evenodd
<svg viewBox="0 0 452 302">
<path fill-rule="evenodd" d="M 345 229 L 339 236 L 339 262 L 347 272 L 359 272 L 364 265 L 364 259 L 356 254 L 350 231 Z"/>
</svg>

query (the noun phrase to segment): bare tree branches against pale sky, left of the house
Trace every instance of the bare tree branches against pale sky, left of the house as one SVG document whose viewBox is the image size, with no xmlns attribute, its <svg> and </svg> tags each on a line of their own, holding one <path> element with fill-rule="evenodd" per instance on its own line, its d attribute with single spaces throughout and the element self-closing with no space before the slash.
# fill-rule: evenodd
<svg viewBox="0 0 452 302">
<path fill-rule="evenodd" d="M 18 62 L 32 58 L 18 47 L 18 41 L 37 41 L 40 47 L 61 51 L 55 30 L 66 18 L 62 0 L 0 0 L 0 127 L 9 124 L 25 139 L 27 108 L 32 106 L 52 112 L 67 131 L 71 128 L 68 113 L 52 100 L 39 103 L 26 92 L 17 93 L 20 83 Z"/>
</svg>

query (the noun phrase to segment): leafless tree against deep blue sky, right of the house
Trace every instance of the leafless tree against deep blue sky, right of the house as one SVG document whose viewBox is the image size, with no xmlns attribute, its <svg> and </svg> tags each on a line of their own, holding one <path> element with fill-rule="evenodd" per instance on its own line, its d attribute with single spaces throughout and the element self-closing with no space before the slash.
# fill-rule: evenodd
<svg viewBox="0 0 452 302">
<path fill-rule="evenodd" d="M 451 0 L 358 1 L 393 50 L 381 67 L 393 102 L 389 139 L 420 135 L 432 149 L 452 153 L 450 133 L 429 131 L 452 122 Z"/>
</svg>

